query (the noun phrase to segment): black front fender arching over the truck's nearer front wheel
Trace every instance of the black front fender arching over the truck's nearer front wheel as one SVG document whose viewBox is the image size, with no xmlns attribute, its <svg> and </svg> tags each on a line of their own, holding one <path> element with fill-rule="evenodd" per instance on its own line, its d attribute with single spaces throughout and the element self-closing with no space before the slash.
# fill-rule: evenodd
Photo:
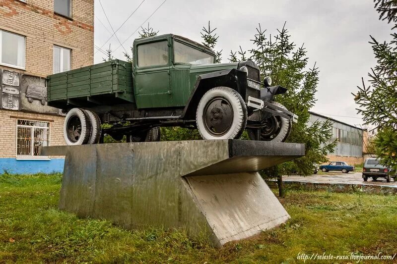
<svg viewBox="0 0 397 264">
<path fill-rule="evenodd" d="M 226 69 L 201 74 L 197 77 L 188 102 L 182 112 L 181 118 L 186 120 L 196 119 L 196 109 L 201 97 L 210 89 L 219 86 L 226 86 L 236 90 L 244 99 L 247 89 L 247 75 L 237 69 Z"/>
</svg>

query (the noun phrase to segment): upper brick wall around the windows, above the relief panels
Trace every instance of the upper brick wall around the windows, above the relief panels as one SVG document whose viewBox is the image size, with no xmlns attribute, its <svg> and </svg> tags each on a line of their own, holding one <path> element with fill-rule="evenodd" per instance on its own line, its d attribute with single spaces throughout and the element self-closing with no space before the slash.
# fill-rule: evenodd
<svg viewBox="0 0 397 264">
<path fill-rule="evenodd" d="M 53 73 L 54 45 L 71 49 L 71 68 L 94 62 L 94 0 L 72 0 L 72 20 L 54 13 L 54 0 L 0 0 L 0 29 L 25 36 L 21 73 Z"/>
</svg>

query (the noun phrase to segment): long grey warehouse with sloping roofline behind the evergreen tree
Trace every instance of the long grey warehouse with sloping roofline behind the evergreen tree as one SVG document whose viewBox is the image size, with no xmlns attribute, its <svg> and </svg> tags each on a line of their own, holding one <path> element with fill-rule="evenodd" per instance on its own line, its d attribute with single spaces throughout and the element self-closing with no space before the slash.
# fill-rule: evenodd
<svg viewBox="0 0 397 264">
<path fill-rule="evenodd" d="M 309 125 L 316 120 L 325 122 L 327 119 L 332 121 L 330 143 L 335 139 L 338 140 L 335 149 L 328 155 L 330 161 L 345 161 L 351 165 L 363 163 L 366 153 L 366 139 L 368 138 L 367 131 L 315 112 L 310 112 Z"/>
</svg>

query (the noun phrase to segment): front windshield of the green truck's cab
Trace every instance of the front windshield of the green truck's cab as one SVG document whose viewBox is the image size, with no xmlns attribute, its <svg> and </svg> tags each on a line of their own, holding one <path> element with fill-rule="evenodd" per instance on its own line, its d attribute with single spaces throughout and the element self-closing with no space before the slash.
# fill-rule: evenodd
<svg viewBox="0 0 397 264">
<path fill-rule="evenodd" d="M 174 59 L 176 63 L 208 64 L 214 63 L 214 56 L 201 52 L 185 44 L 174 42 Z"/>
</svg>

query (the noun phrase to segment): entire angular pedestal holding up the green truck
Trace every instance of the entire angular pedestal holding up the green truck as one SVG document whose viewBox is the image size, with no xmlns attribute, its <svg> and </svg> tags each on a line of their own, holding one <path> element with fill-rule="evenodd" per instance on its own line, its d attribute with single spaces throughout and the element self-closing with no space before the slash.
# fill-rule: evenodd
<svg viewBox="0 0 397 264">
<path fill-rule="evenodd" d="M 44 147 L 66 156 L 60 209 L 129 229 L 205 232 L 215 246 L 289 215 L 257 172 L 304 155 L 303 144 L 200 140 Z"/>
</svg>

